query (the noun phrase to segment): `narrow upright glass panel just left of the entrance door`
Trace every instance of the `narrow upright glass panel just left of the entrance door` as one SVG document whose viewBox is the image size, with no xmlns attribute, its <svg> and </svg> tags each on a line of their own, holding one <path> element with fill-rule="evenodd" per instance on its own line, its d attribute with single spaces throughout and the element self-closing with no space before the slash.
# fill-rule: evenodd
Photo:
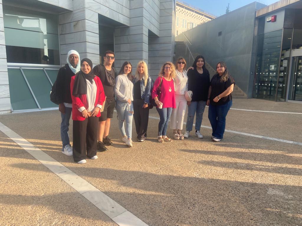
<svg viewBox="0 0 302 226">
<path fill-rule="evenodd" d="M 291 53 L 292 30 L 293 29 L 291 29 L 291 28 L 288 28 L 288 29 L 284 28 L 284 31 L 283 31 L 277 101 L 285 101 L 286 87 L 287 87 L 287 80 L 288 80 L 288 70 L 289 70 L 289 57 L 290 57 L 290 53 Z"/>
</svg>

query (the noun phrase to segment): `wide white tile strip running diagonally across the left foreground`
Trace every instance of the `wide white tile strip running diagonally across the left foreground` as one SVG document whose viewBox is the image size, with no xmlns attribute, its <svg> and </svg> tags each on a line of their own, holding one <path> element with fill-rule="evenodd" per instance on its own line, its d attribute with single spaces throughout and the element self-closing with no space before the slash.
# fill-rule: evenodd
<svg viewBox="0 0 302 226">
<path fill-rule="evenodd" d="M 113 199 L 0 122 L 0 130 L 120 226 L 148 226 Z"/>
</svg>

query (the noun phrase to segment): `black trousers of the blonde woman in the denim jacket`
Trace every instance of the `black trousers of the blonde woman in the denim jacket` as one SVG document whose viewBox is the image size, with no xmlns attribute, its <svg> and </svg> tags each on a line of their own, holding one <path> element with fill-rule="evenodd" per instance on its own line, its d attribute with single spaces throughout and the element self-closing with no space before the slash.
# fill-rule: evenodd
<svg viewBox="0 0 302 226">
<path fill-rule="evenodd" d="M 137 138 L 147 137 L 147 128 L 149 121 L 149 108 L 143 108 L 144 101 L 135 99 L 133 101 L 133 118 Z"/>
</svg>

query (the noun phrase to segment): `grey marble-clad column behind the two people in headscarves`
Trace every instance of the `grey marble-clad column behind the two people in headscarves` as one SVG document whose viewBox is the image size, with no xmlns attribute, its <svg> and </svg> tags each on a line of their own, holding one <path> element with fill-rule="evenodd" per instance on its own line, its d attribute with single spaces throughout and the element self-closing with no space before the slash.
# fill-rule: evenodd
<svg viewBox="0 0 302 226">
<path fill-rule="evenodd" d="M 73 49 L 80 58 L 89 58 L 93 65 L 100 63 L 98 13 L 85 8 L 85 0 L 77 1 L 77 9 L 59 15 L 61 63 L 66 64 L 67 53 Z M 81 4 L 82 3 L 82 4 Z"/>
</svg>

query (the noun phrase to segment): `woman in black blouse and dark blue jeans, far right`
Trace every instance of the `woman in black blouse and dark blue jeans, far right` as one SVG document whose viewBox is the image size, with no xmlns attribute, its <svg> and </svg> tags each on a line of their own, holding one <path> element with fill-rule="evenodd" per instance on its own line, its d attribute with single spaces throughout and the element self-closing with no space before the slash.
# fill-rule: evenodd
<svg viewBox="0 0 302 226">
<path fill-rule="evenodd" d="M 216 65 L 216 74 L 212 77 L 208 92 L 207 105 L 212 126 L 212 140 L 220 141 L 226 127 L 226 115 L 232 106 L 232 92 L 235 81 L 222 61 Z"/>
</svg>

